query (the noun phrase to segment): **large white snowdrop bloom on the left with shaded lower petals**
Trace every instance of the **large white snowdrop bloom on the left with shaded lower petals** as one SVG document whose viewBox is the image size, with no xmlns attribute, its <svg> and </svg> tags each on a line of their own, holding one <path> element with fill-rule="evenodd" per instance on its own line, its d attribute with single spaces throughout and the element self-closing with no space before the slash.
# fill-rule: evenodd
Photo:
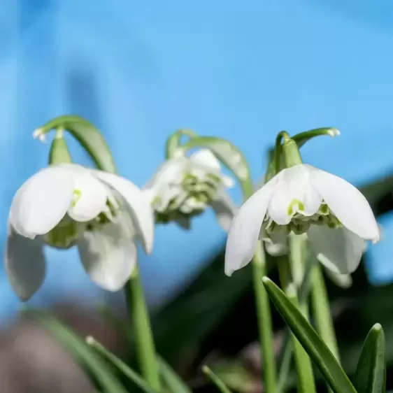
<svg viewBox="0 0 393 393">
<path fill-rule="evenodd" d="M 76 164 L 52 165 L 15 194 L 6 271 L 17 295 L 27 301 L 45 278 L 43 245 L 76 245 L 90 278 L 117 291 L 136 264 L 136 240 L 150 253 L 153 236 L 152 208 L 129 180 Z"/>
</svg>

